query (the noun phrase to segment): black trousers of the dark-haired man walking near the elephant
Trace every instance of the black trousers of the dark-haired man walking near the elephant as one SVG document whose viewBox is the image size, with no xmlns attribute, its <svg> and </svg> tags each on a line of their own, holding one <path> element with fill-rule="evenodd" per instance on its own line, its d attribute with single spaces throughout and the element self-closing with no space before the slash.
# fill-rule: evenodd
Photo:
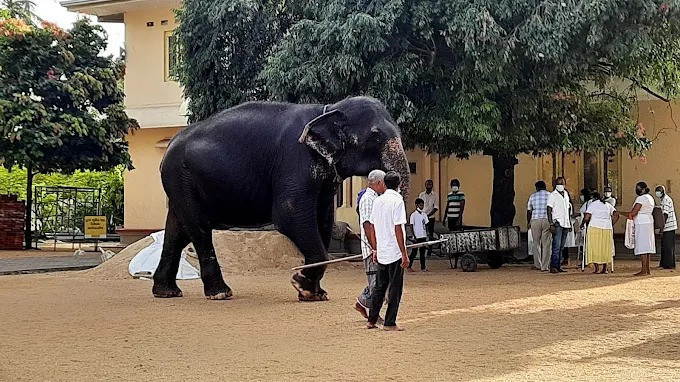
<svg viewBox="0 0 680 382">
<path fill-rule="evenodd" d="M 390 299 L 385 312 L 385 326 L 396 326 L 401 292 L 404 289 L 404 268 L 401 267 L 401 259 L 390 264 L 378 264 L 378 279 L 375 282 L 373 296 L 371 296 L 368 322 L 372 324 L 378 322 L 380 308 L 388 289 Z"/>
</svg>

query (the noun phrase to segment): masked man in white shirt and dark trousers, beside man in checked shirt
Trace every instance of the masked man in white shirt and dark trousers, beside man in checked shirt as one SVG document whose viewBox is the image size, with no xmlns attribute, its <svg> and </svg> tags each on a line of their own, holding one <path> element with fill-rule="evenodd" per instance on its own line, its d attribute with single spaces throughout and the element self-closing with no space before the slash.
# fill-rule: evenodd
<svg viewBox="0 0 680 382">
<path fill-rule="evenodd" d="M 553 234 L 552 254 L 550 256 L 550 273 L 566 272 L 561 267 L 562 250 L 571 231 L 571 198 L 564 189 L 564 177 L 555 179 L 555 190 L 548 196 L 548 223 Z"/>
</svg>

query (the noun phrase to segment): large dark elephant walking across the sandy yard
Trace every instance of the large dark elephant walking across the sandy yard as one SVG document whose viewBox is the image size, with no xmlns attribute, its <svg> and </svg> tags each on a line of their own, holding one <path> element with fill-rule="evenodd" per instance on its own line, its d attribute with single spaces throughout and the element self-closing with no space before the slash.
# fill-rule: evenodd
<svg viewBox="0 0 680 382">
<path fill-rule="evenodd" d="M 328 105 L 254 101 L 190 124 L 170 141 L 160 166 L 168 197 L 165 242 L 153 276 L 155 297 L 181 297 L 175 275 L 190 242 L 198 254 L 206 298 L 225 300 L 213 229 L 274 224 L 303 254 L 327 260 L 334 196 L 351 176 L 374 169 L 401 175 L 409 166 L 401 134 L 385 106 L 371 97 Z M 328 299 L 325 266 L 292 277 L 300 301 Z"/>
</svg>

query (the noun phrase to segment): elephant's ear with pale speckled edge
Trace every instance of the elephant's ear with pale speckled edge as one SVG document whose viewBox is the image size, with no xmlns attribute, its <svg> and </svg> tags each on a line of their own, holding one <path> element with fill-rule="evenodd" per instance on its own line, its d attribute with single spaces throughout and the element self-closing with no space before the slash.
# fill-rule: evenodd
<svg viewBox="0 0 680 382">
<path fill-rule="evenodd" d="M 342 126 L 346 122 L 347 118 L 340 110 L 330 110 L 309 121 L 298 141 L 314 149 L 332 164 L 344 152 L 345 134 Z"/>
</svg>

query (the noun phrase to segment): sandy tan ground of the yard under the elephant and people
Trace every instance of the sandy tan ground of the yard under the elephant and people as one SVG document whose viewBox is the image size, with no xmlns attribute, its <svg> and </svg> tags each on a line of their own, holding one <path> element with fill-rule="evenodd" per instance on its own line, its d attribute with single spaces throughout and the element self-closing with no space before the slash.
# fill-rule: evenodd
<svg viewBox="0 0 680 382">
<path fill-rule="evenodd" d="M 680 380 L 678 272 L 430 267 L 407 274 L 401 333 L 364 329 L 358 264 L 329 270 L 322 303 L 297 302 L 282 270 L 226 275 L 231 301 L 200 281 L 161 300 L 101 272 L 2 276 L 0 380 Z"/>
</svg>

